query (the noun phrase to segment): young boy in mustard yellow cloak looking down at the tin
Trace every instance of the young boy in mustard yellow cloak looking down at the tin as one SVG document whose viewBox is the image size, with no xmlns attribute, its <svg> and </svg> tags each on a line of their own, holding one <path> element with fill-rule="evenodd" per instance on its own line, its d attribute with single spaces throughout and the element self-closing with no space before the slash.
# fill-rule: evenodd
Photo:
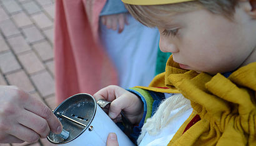
<svg viewBox="0 0 256 146">
<path fill-rule="evenodd" d="M 256 145 L 255 0 L 122 1 L 159 29 L 172 57 L 149 87 L 94 94 L 112 101 L 109 116 L 119 121 L 124 111 L 132 136 L 143 125 L 139 145 Z M 118 145 L 116 135 L 107 145 Z"/>
</svg>

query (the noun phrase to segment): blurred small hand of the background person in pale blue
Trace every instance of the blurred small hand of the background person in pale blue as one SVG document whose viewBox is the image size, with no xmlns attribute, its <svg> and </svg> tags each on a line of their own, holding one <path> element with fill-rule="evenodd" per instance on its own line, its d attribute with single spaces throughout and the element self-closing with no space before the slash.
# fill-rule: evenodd
<svg viewBox="0 0 256 146">
<path fill-rule="evenodd" d="M 107 29 L 117 30 L 117 26 L 119 26 L 118 33 L 121 33 L 124 30 L 124 25 L 128 24 L 126 13 L 101 16 L 100 19 Z"/>
</svg>

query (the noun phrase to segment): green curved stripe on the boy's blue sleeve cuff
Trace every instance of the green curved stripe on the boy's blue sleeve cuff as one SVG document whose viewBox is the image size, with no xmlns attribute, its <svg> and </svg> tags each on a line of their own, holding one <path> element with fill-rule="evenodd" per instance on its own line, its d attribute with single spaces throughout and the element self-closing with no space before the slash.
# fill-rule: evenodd
<svg viewBox="0 0 256 146">
<path fill-rule="evenodd" d="M 129 89 L 133 89 L 133 90 L 137 91 L 145 99 L 145 101 L 147 103 L 147 114 L 145 116 L 145 121 L 146 121 L 148 118 L 151 117 L 154 99 L 151 97 L 149 92 L 145 89 L 140 89 L 140 88 L 129 88 Z M 144 123 L 145 123 L 145 121 L 144 121 Z"/>
</svg>

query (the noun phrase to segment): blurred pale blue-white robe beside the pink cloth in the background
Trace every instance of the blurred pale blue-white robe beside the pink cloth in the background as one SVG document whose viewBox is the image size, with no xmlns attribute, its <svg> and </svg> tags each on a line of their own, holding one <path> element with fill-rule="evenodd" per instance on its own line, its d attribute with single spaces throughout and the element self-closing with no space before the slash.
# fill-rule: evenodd
<svg viewBox="0 0 256 146">
<path fill-rule="evenodd" d="M 121 34 L 101 24 L 101 40 L 116 65 L 119 86 L 148 86 L 155 76 L 159 32 L 130 15 L 127 20 L 129 25 L 125 25 Z"/>
</svg>

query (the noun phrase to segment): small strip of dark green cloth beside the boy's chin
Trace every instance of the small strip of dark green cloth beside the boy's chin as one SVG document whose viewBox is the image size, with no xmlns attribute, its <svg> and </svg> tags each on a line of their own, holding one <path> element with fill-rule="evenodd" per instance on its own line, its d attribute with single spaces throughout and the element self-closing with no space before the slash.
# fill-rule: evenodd
<svg viewBox="0 0 256 146">
<path fill-rule="evenodd" d="M 157 63 L 155 66 L 155 75 L 158 75 L 159 73 L 163 73 L 165 71 L 165 65 L 172 53 L 169 52 L 162 52 L 160 48 L 158 47 L 157 52 Z"/>
</svg>

